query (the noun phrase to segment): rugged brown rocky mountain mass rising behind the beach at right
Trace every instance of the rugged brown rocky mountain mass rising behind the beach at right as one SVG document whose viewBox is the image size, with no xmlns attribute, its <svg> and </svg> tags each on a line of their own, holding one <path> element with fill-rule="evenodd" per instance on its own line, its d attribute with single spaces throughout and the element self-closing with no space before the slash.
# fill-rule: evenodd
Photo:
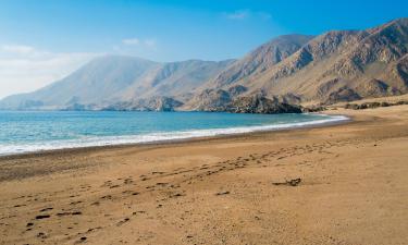
<svg viewBox="0 0 408 245">
<path fill-rule="evenodd" d="M 288 42 L 281 37 L 269 44 L 276 40 Z M 272 59 L 276 52 L 269 52 L 268 65 L 258 62 L 262 47 L 206 84 L 187 106 L 211 110 L 220 102 L 217 95 L 227 101 L 236 98 L 230 93 L 236 87 L 239 97 L 261 95 L 290 103 L 334 103 L 408 93 L 408 19 L 367 30 L 327 32 L 301 47 L 292 46 L 285 57 Z"/>
</svg>

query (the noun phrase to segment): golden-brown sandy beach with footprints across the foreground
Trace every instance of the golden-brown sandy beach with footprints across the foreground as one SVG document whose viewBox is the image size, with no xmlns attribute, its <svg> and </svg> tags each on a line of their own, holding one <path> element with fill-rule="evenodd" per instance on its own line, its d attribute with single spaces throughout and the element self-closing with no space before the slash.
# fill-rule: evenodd
<svg viewBox="0 0 408 245">
<path fill-rule="evenodd" d="M 354 122 L 0 158 L 0 244 L 408 244 L 408 106 L 330 113 Z"/>
</svg>

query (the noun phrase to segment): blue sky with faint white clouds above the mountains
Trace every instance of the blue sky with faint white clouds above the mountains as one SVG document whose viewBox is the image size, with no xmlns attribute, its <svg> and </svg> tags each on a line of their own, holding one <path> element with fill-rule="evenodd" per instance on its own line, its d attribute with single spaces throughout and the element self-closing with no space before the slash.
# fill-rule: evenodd
<svg viewBox="0 0 408 245">
<path fill-rule="evenodd" d="M 98 56 L 240 58 L 284 34 L 408 17 L 407 0 L 1 0 L 0 98 L 61 79 Z"/>
</svg>

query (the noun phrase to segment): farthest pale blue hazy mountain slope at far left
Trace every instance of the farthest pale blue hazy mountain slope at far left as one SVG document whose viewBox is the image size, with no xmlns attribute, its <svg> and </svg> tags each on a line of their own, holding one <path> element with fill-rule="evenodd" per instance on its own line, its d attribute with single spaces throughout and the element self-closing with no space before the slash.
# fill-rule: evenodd
<svg viewBox="0 0 408 245">
<path fill-rule="evenodd" d="M 59 82 L 34 93 L 8 97 L 1 105 L 25 109 L 103 102 L 158 65 L 156 62 L 131 57 L 97 58 Z"/>
</svg>

